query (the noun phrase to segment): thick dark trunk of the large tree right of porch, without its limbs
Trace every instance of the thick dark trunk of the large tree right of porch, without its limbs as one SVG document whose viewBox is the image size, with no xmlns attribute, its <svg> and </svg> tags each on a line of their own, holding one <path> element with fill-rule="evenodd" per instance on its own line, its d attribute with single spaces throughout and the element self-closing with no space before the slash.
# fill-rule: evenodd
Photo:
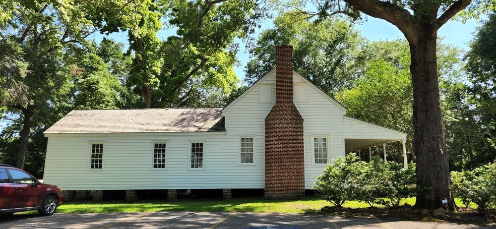
<svg viewBox="0 0 496 229">
<path fill-rule="evenodd" d="M 413 81 L 413 151 L 417 156 L 418 208 L 455 205 L 451 195 L 448 154 L 442 130 L 436 60 L 436 30 L 420 25 L 416 41 L 409 41 Z"/>
</svg>

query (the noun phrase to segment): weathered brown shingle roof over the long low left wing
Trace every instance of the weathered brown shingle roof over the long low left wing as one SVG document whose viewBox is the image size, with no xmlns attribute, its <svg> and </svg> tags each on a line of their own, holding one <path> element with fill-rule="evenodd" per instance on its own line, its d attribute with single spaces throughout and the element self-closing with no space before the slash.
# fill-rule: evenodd
<svg viewBox="0 0 496 229">
<path fill-rule="evenodd" d="M 225 131 L 221 108 L 74 110 L 45 134 Z"/>
</svg>

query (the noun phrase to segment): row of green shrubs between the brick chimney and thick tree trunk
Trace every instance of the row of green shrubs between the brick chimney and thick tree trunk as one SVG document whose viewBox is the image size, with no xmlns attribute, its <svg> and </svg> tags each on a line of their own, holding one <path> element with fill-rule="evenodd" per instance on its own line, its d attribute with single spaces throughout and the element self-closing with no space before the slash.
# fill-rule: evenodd
<svg viewBox="0 0 496 229">
<path fill-rule="evenodd" d="M 415 164 L 408 168 L 395 162 L 385 163 L 378 157 L 372 162 L 358 161 L 355 154 L 340 157 L 317 176 L 314 189 L 336 206 L 355 199 L 367 203 L 398 206 L 415 195 L 417 177 Z"/>
</svg>

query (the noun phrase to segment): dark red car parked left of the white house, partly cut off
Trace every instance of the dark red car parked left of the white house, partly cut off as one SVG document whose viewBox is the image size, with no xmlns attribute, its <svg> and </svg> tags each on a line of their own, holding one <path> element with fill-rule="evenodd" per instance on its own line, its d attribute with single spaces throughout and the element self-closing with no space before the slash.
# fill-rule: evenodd
<svg viewBox="0 0 496 229">
<path fill-rule="evenodd" d="M 41 183 L 26 171 L 0 164 L 0 215 L 38 210 L 42 216 L 50 216 L 61 203 L 61 187 Z"/>
</svg>

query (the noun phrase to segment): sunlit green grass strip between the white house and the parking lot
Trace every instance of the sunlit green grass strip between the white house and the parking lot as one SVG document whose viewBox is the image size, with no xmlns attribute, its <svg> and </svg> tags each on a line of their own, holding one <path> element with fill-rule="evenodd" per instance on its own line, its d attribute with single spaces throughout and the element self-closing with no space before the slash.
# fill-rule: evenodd
<svg viewBox="0 0 496 229">
<path fill-rule="evenodd" d="M 458 206 L 463 206 L 460 199 L 455 199 Z M 415 204 L 415 197 L 404 201 Z M 117 212 L 160 212 L 160 211 L 192 211 L 192 212 L 275 212 L 275 213 L 314 213 L 324 206 L 331 206 L 325 200 L 311 198 L 305 200 L 265 200 L 265 199 L 234 199 L 234 200 L 180 200 L 167 201 L 138 201 L 120 202 L 64 202 L 58 213 L 117 213 Z M 348 201 L 344 207 L 366 208 L 366 203 Z M 472 206 L 472 207 L 475 207 Z"/>
</svg>

